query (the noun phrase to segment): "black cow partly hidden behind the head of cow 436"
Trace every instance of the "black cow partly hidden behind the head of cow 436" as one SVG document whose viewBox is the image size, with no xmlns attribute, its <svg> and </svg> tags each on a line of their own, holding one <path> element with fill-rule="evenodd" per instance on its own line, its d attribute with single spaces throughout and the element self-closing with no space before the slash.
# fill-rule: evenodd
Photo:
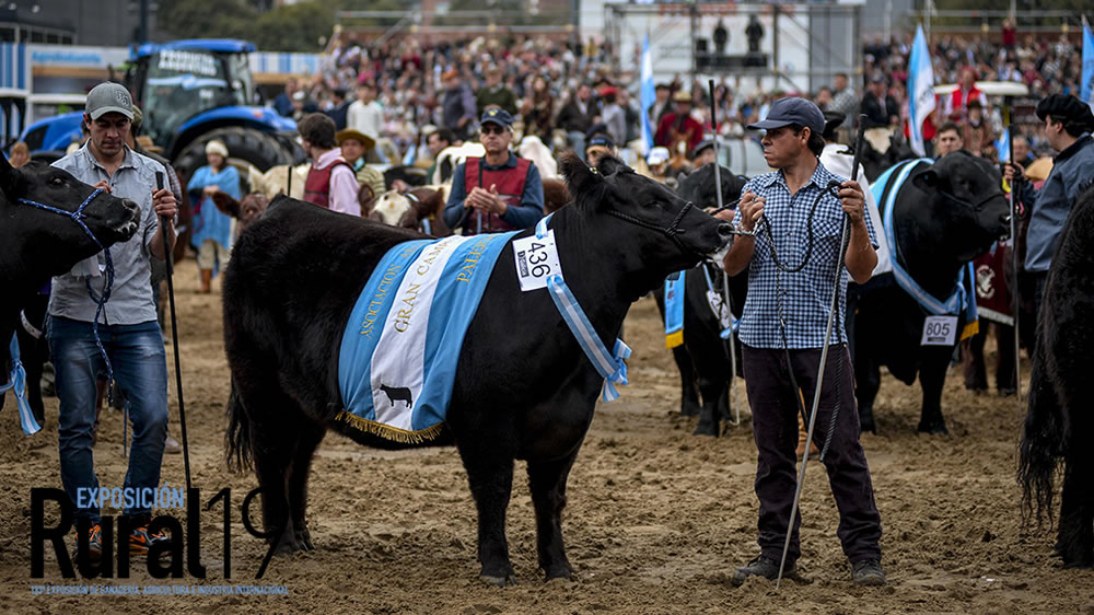
<svg viewBox="0 0 1094 615">
<path fill-rule="evenodd" d="M 734 206 L 747 179 L 734 175 L 724 166 L 719 173 L 722 202 Z M 706 209 L 718 206 L 715 184 L 714 165 L 711 163 L 687 175 L 676 192 L 680 198 Z M 736 374 L 732 372 L 730 344 L 736 344 L 736 340 L 728 329 L 744 310 L 748 271 L 726 277 L 721 258 L 713 258 L 674 274 L 672 278 L 654 295 L 662 318 L 667 316 L 666 323 L 670 323 L 665 330 L 665 345 L 672 349 L 680 373 L 680 414 L 699 417 L 696 436 L 717 437 L 721 432 L 721 421 L 731 416 L 730 383 L 734 376 L 742 375 L 740 365 Z M 674 304 L 676 301 L 678 303 Z"/>
</svg>

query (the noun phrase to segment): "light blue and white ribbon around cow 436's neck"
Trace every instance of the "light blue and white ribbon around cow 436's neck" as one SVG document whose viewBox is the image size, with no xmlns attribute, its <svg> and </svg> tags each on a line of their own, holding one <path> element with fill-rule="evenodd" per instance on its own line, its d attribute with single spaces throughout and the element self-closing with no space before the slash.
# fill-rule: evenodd
<svg viewBox="0 0 1094 615">
<path fill-rule="evenodd" d="M 536 223 L 536 237 L 547 236 L 548 220 L 550 220 L 550 216 Z M 566 286 L 562 276 L 556 275 L 547 278 L 547 290 L 550 292 L 551 300 L 555 301 L 555 306 L 562 314 L 566 325 L 570 327 L 570 333 L 578 339 L 578 344 L 596 371 L 604 376 L 604 387 L 601 392 L 603 399 L 605 402 L 618 399 L 619 392 L 616 391 L 615 384 L 627 384 L 626 359 L 630 357 L 630 347 L 621 339 L 616 339 L 612 353 L 608 353 L 608 349 L 604 347 L 596 329 L 589 322 L 585 312 L 582 311 L 578 300 L 570 292 L 570 288 Z"/>
</svg>

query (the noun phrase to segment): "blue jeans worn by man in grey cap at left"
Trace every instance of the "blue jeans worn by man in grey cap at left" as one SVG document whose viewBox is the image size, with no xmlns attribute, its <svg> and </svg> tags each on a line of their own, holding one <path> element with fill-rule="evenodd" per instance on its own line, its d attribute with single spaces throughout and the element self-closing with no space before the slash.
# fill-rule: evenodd
<svg viewBox="0 0 1094 615">
<path fill-rule="evenodd" d="M 98 488 L 91 432 L 95 425 L 96 383 L 106 380 L 106 363 L 95 346 L 91 323 L 50 317 L 46 335 L 60 401 L 61 483 L 72 500 L 75 518 L 85 517 L 95 524 L 101 515 L 98 501 L 78 508 L 77 490 Z M 160 325 L 154 321 L 139 325 L 100 325 L 98 335 L 110 357 L 114 378 L 128 397 L 132 421 L 129 471 L 123 487 L 154 489 L 160 484 L 160 465 L 167 438 L 167 362 Z M 88 499 L 86 491 L 84 499 Z M 136 515 L 148 514 L 151 510 L 127 508 L 124 512 Z"/>
</svg>

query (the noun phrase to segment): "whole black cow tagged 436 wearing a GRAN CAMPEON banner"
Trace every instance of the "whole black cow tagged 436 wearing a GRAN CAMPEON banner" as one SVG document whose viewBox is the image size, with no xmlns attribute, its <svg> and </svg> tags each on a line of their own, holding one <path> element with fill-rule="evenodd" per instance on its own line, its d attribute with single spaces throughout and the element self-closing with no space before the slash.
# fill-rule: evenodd
<svg viewBox="0 0 1094 615">
<path fill-rule="evenodd" d="M 254 467 L 278 550 L 312 548 L 307 476 L 327 430 L 388 446 L 450 437 L 478 510 L 480 578 L 514 579 L 514 460 L 527 462 L 539 568 L 570 578 L 567 477 L 597 397 L 626 382 L 624 317 L 731 229 L 614 158 L 561 169 L 573 204 L 511 234 L 422 243 L 287 197 L 242 234 L 223 287 L 228 454 Z M 430 308 L 445 303 L 452 315 Z"/>
</svg>

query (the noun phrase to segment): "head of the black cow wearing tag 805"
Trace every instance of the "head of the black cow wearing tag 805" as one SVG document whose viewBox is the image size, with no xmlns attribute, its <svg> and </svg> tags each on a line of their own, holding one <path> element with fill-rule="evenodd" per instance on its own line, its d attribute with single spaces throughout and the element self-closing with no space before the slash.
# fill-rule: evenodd
<svg viewBox="0 0 1094 615">
<path fill-rule="evenodd" d="M 930 196 L 927 216 L 919 222 L 958 262 L 977 258 L 1010 234 L 1002 177 L 987 160 L 964 150 L 952 152 L 916 174 L 912 183 Z"/>
</svg>

